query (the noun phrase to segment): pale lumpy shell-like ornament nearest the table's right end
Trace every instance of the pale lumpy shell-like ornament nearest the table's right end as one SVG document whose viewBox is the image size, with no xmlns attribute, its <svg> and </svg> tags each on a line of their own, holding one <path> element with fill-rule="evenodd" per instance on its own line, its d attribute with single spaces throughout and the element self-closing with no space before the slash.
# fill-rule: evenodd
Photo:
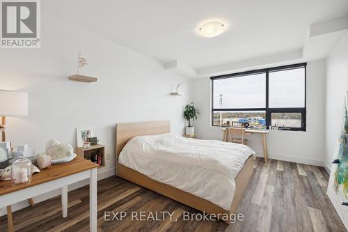
<svg viewBox="0 0 348 232">
<path fill-rule="evenodd" d="M 56 164 L 57 160 L 59 160 L 59 163 L 63 160 L 69 162 L 74 159 L 74 149 L 70 144 L 61 144 L 59 141 L 51 139 L 46 144 L 46 155 L 51 156 L 52 164 Z"/>
</svg>

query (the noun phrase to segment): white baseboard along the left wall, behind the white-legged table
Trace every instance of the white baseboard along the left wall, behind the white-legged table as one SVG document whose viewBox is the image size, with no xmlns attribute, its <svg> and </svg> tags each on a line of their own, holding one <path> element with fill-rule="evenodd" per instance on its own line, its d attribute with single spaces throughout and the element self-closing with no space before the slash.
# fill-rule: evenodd
<svg viewBox="0 0 348 232">
<path fill-rule="evenodd" d="M 106 170 L 102 170 L 102 171 L 98 172 L 97 179 L 102 180 L 104 178 L 108 178 L 109 176 L 114 176 L 114 175 L 115 175 L 115 168 L 106 169 Z M 68 191 L 76 190 L 79 187 L 83 187 L 83 186 L 88 185 L 88 184 L 89 184 L 88 180 L 81 180 L 77 183 L 74 183 L 73 185 L 69 185 Z M 45 201 L 47 199 L 51 199 L 51 198 L 53 198 L 55 196 L 59 196 L 59 195 L 61 195 L 60 189 L 52 190 L 51 192 L 47 192 L 45 194 L 33 197 L 33 200 L 34 200 L 34 203 L 39 203 L 41 201 Z M 28 201 L 20 201 L 20 202 L 12 205 L 12 211 L 15 212 L 16 210 L 21 210 L 22 208 L 26 208 L 28 206 L 29 206 Z M 0 209 L 0 216 L 6 215 L 6 214 L 7 214 L 6 208 Z"/>
</svg>

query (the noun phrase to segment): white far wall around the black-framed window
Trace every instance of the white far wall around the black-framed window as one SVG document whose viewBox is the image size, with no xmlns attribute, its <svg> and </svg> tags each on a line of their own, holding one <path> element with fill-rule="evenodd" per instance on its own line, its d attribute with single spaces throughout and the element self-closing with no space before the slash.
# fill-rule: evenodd
<svg viewBox="0 0 348 232">
<path fill-rule="evenodd" d="M 307 131 L 270 131 L 267 134 L 268 155 L 277 160 L 323 165 L 324 157 L 324 102 L 325 62 L 313 61 L 307 65 Z M 211 127 L 210 79 L 193 82 L 193 102 L 201 116 L 194 123 L 198 137 L 222 139 L 219 127 Z M 258 156 L 263 156 L 262 141 L 258 134 L 249 139 L 249 146 Z"/>
</svg>

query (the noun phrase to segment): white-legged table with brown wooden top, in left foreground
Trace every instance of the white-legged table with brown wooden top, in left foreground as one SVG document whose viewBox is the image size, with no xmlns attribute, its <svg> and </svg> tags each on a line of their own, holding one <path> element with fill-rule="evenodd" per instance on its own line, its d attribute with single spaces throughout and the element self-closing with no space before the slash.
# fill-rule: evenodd
<svg viewBox="0 0 348 232">
<path fill-rule="evenodd" d="M 98 164 L 76 157 L 71 162 L 42 169 L 27 183 L 11 185 L 10 180 L 0 180 L 0 208 L 61 188 L 63 218 L 68 217 L 68 185 L 89 178 L 90 231 L 97 231 L 97 167 Z"/>
</svg>

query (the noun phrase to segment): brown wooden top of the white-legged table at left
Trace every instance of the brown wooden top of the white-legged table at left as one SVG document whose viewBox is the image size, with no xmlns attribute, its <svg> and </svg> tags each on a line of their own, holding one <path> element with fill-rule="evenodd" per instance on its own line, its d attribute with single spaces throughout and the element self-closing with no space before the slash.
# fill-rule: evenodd
<svg viewBox="0 0 348 232">
<path fill-rule="evenodd" d="M 85 160 L 82 157 L 75 157 L 74 160 L 64 164 L 54 164 L 46 169 L 40 169 L 40 173 L 33 173 L 30 182 L 12 185 L 10 180 L 0 180 L 0 196 L 9 194 L 27 187 L 40 185 L 50 180 L 56 180 L 64 176 L 70 176 L 81 171 L 99 167 L 98 164 Z"/>
</svg>

